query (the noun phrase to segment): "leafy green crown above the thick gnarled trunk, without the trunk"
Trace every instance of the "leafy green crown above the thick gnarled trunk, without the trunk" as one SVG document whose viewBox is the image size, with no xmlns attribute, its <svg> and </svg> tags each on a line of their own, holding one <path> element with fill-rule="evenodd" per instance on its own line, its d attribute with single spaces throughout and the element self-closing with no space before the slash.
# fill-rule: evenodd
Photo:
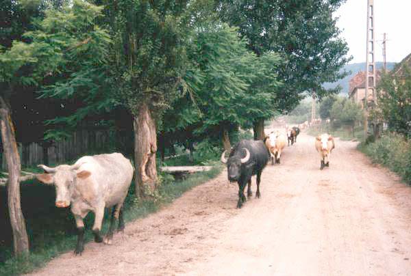
<svg viewBox="0 0 411 276">
<path fill-rule="evenodd" d="M 188 1 L 105 1 L 114 46 L 116 98 L 135 115 L 142 103 L 159 113 L 181 95 L 186 70 L 183 19 Z"/>
</svg>

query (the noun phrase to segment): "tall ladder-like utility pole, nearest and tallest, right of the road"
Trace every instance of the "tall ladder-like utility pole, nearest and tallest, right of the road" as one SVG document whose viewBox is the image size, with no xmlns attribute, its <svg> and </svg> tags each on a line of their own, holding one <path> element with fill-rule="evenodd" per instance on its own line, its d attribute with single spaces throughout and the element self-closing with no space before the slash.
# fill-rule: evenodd
<svg viewBox="0 0 411 276">
<path fill-rule="evenodd" d="M 368 134 L 368 93 L 371 89 L 375 100 L 375 21 L 374 0 L 367 0 L 366 9 L 366 68 L 365 68 L 365 94 L 364 94 L 364 139 Z"/>
</svg>

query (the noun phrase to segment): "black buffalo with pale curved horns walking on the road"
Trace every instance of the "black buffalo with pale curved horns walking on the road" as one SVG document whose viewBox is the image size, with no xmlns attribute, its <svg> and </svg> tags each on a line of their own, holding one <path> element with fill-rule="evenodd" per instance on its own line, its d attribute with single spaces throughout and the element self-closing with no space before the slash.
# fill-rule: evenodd
<svg viewBox="0 0 411 276">
<path fill-rule="evenodd" d="M 260 197 L 261 173 L 269 158 L 269 150 L 263 141 L 241 140 L 234 146 L 228 159 L 225 158 L 225 152 L 223 152 L 221 161 L 227 163 L 228 180 L 238 182 L 237 208 L 241 208 L 242 204 L 247 200 L 244 195 L 247 183 L 247 196 L 250 197 L 252 195 L 251 176 L 257 175 L 256 197 Z"/>
</svg>

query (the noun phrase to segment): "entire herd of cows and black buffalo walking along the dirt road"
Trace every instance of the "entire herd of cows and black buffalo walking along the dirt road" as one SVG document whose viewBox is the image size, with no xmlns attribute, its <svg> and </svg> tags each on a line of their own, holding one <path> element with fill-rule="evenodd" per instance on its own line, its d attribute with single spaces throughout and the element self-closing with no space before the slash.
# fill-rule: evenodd
<svg viewBox="0 0 411 276">
<path fill-rule="evenodd" d="M 227 164 L 228 180 L 238 182 L 237 208 L 241 208 L 247 200 L 244 195 L 247 185 L 247 197 L 252 195 L 251 176 L 257 176 L 256 197 L 260 197 L 260 181 L 264 167 L 270 159 L 272 165 L 280 163 L 286 140 L 288 146 L 297 143 L 300 127 L 286 127 L 285 134 L 273 131 L 266 135 L 263 141 L 241 140 L 229 152 L 228 158 L 225 157 L 227 152 L 223 152 L 221 162 Z M 333 137 L 328 134 L 316 137 L 315 148 L 321 155 L 320 169 L 329 167 L 329 156 L 334 149 Z M 44 174 L 36 175 L 38 180 L 55 187 L 55 206 L 71 206 L 78 232 L 74 251 L 76 255 L 81 255 L 84 251 L 84 218 L 88 212 L 95 214 L 92 233 L 96 243 L 112 243 L 116 221 L 117 230 L 124 230 L 123 203 L 133 179 L 134 167 L 123 154 L 83 156 L 73 165 L 38 167 L 45 171 Z M 100 231 L 105 208 L 112 208 L 112 212 L 108 233 L 103 238 Z"/>
</svg>

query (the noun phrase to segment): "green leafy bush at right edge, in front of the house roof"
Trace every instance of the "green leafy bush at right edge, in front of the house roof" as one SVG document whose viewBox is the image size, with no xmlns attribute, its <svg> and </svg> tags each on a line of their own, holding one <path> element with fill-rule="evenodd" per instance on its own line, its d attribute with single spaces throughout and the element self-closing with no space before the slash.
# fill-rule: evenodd
<svg viewBox="0 0 411 276">
<path fill-rule="evenodd" d="M 371 118 L 388 122 L 388 128 L 411 138 L 411 68 L 397 76 L 384 74 L 377 87 L 378 106 Z"/>
</svg>

